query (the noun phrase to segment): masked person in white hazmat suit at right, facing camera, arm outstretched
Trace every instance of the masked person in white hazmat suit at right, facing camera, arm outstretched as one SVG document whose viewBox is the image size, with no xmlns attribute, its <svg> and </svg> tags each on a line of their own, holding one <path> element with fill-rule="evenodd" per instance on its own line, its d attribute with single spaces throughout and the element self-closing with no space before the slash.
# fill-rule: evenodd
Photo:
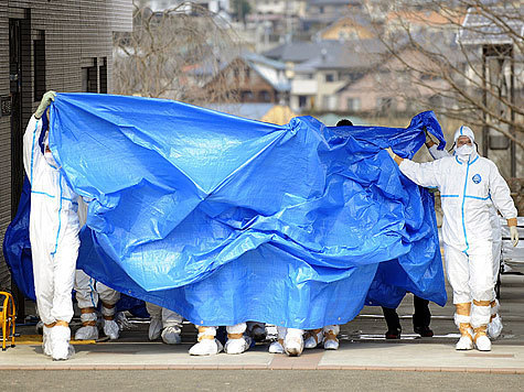
<svg viewBox="0 0 524 392">
<path fill-rule="evenodd" d="M 492 229 L 490 198 L 507 219 L 513 246 L 518 242 L 516 208 L 510 188 L 495 164 L 479 156 L 468 127 L 455 133 L 455 155 L 415 163 L 386 149 L 400 172 L 420 186 L 440 190 L 445 261 L 453 288 L 455 323 L 460 330 L 457 350 L 491 350 L 486 335 L 493 300 Z"/>
</svg>

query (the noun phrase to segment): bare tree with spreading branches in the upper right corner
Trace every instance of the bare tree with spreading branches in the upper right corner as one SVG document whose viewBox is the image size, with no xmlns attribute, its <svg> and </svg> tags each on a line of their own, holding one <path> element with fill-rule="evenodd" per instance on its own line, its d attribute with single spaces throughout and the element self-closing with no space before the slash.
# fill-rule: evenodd
<svg viewBox="0 0 524 392">
<path fill-rule="evenodd" d="M 511 145 L 513 161 L 503 171 L 515 176 L 524 149 L 521 2 L 368 0 L 367 6 L 387 55 L 402 64 L 395 72 L 407 79 L 404 89 L 431 91 L 417 104 L 482 130 L 483 151 L 495 161 L 496 150 Z M 507 162 L 507 151 L 499 157 Z"/>
</svg>

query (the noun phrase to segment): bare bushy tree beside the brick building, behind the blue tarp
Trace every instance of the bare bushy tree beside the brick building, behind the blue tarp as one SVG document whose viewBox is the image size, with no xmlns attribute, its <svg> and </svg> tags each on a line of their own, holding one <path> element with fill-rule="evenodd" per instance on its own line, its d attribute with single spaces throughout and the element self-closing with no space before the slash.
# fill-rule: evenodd
<svg viewBox="0 0 524 392">
<path fill-rule="evenodd" d="M 114 41 L 117 94 L 195 105 L 236 101 L 232 80 L 216 75 L 239 47 L 228 25 L 196 3 L 152 12 L 136 2 L 132 33 L 116 34 Z"/>
</svg>

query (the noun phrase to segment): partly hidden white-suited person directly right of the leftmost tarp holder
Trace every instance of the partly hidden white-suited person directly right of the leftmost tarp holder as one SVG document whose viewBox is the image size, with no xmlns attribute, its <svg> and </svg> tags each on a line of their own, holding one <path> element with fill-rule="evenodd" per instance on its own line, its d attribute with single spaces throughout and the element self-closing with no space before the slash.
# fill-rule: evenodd
<svg viewBox="0 0 524 392">
<path fill-rule="evenodd" d="M 78 220 L 81 227 L 87 220 L 87 203 L 78 197 Z M 96 340 L 98 339 L 98 328 L 96 322 L 98 316 L 96 308 L 98 300 L 101 301 L 101 316 L 104 318 L 104 334 L 111 339 L 118 339 L 120 328 L 115 322 L 115 305 L 120 300 L 120 293 L 106 286 L 101 282 L 95 281 L 82 270 L 75 273 L 76 301 L 81 308 L 82 327 L 76 331 L 76 340 Z"/>
</svg>

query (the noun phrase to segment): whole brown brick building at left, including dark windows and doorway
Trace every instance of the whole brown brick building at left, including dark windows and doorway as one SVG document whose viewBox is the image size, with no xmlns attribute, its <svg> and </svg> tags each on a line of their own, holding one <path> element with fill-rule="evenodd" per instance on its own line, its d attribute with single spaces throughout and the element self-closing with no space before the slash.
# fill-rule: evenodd
<svg viewBox="0 0 524 392">
<path fill-rule="evenodd" d="M 46 90 L 110 92 L 113 33 L 132 0 L 0 0 L 0 240 L 23 183 L 22 137 Z M 11 285 L 3 254 L 0 290 Z"/>
</svg>

